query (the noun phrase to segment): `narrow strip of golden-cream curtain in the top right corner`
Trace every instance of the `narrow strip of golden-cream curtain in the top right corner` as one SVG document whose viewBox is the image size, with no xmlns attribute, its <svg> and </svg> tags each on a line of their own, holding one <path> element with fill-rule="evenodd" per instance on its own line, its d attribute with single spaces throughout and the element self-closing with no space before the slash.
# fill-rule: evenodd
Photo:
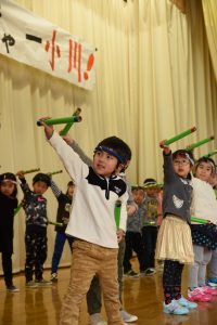
<svg viewBox="0 0 217 325">
<path fill-rule="evenodd" d="M 202 0 L 208 46 L 217 80 L 217 1 Z"/>
</svg>

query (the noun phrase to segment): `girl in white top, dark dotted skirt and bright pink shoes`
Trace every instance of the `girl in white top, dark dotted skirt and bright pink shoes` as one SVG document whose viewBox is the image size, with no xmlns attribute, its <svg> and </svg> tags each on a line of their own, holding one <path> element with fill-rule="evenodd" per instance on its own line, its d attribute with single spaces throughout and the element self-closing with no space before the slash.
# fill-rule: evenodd
<svg viewBox="0 0 217 325">
<path fill-rule="evenodd" d="M 202 157 L 195 165 L 193 184 L 192 214 L 199 219 L 209 220 L 212 224 L 192 222 L 191 232 L 194 250 L 194 264 L 189 266 L 189 299 L 191 301 L 210 301 L 212 295 L 217 295 L 205 286 L 206 265 L 217 248 L 217 202 L 209 184 L 210 176 L 215 173 L 215 162 Z"/>
</svg>

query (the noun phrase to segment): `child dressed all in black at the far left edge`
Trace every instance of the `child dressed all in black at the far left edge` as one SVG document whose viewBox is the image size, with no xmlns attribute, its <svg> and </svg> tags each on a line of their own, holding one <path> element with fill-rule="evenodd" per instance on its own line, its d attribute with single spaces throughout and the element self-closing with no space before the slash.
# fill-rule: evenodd
<svg viewBox="0 0 217 325">
<path fill-rule="evenodd" d="M 0 176 L 0 252 L 5 286 L 12 292 L 18 291 L 13 284 L 12 274 L 14 209 L 17 207 L 16 195 L 15 176 L 11 172 L 2 173 Z"/>
</svg>

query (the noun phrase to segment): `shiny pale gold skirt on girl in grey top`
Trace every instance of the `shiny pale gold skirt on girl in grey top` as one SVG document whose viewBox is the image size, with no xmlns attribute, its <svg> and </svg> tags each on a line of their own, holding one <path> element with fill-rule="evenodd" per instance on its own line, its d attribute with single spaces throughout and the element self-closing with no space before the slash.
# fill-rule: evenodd
<svg viewBox="0 0 217 325">
<path fill-rule="evenodd" d="M 168 214 L 163 219 L 157 235 L 155 259 L 193 264 L 191 229 L 182 219 Z"/>
</svg>

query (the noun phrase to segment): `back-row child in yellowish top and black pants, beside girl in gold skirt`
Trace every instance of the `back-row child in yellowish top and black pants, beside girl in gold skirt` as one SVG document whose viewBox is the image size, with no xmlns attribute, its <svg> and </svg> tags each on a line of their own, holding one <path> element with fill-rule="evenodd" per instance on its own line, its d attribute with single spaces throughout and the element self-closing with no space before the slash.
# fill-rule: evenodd
<svg viewBox="0 0 217 325">
<path fill-rule="evenodd" d="M 157 237 L 158 210 L 159 203 L 157 200 L 158 190 L 154 179 L 144 180 L 145 190 L 145 213 L 142 216 L 142 243 L 144 247 L 144 275 L 153 275 L 156 273 L 154 265 L 154 255 Z"/>
</svg>

